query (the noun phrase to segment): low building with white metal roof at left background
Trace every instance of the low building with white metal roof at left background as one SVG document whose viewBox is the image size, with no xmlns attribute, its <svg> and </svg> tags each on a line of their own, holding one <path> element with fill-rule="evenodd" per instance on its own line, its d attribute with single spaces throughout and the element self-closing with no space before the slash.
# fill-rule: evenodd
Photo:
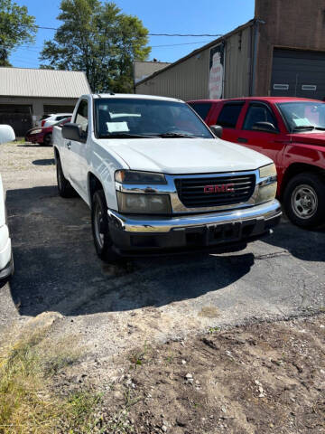
<svg viewBox="0 0 325 434">
<path fill-rule="evenodd" d="M 89 92 L 84 72 L 0 68 L 0 124 L 22 137 L 42 115 L 72 112 Z"/>
</svg>

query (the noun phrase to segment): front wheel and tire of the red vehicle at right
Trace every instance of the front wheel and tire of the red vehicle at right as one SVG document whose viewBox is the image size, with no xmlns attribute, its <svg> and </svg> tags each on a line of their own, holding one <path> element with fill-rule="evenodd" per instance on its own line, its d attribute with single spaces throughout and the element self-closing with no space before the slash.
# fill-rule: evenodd
<svg viewBox="0 0 325 434">
<path fill-rule="evenodd" d="M 284 210 L 293 224 L 311 229 L 325 222 L 325 178 L 318 174 L 295 175 L 283 193 Z"/>
</svg>

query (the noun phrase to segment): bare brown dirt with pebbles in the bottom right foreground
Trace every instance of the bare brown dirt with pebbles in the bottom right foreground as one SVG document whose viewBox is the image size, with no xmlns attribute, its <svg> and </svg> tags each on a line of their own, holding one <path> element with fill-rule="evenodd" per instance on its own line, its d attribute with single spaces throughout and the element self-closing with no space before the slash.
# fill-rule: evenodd
<svg viewBox="0 0 325 434">
<path fill-rule="evenodd" d="M 144 342 L 107 360 L 117 377 L 98 377 L 95 367 L 77 381 L 104 392 L 107 434 L 322 433 L 324 344 L 324 315 L 214 327 L 176 342 Z M 60 390 L 70 390 L 76 369 L 58 377 Z"/>
</svg>

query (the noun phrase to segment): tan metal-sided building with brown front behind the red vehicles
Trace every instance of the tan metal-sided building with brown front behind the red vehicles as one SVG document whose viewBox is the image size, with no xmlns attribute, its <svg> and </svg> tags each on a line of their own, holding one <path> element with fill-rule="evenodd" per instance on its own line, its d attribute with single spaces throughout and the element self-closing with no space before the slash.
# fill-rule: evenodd
<svg viewBox="0 0 325 434">
<path fill-rule="evenodd" d="M 181 99 L 325 98 L 323 0 L 255 0 L 255 18 L 135 84 Z"/>
</svg>

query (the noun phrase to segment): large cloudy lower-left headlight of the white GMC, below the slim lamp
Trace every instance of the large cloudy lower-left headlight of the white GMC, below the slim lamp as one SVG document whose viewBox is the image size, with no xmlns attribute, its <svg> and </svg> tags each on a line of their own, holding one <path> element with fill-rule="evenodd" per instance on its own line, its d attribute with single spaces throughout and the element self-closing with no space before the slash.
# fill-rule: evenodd
<svg viewBox="0 0 325 434">
<path fill-rule="evenodd" d="M 171 214 L 168 194 L 116 192 L 118 210 L 131 214 Z"/>
</svg>

